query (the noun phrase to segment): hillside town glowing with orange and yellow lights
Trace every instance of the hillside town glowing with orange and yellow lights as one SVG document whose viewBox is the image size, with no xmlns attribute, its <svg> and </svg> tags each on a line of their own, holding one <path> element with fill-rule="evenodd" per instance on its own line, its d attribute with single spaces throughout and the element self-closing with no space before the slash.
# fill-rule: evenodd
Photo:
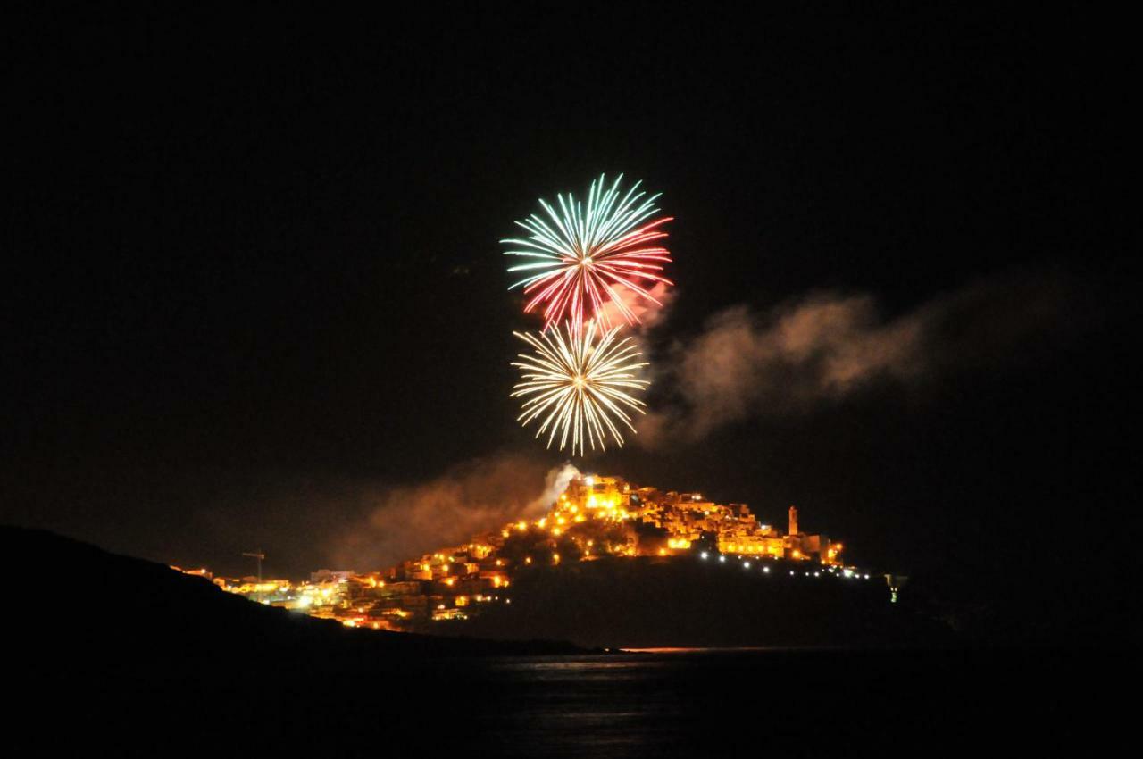
<svg viewBox="0 0 1143 759">
<path fill-rule="evenodd" d="M 727 560 L 761 573 L 869 580 L 841 560 L 842 546 L 799 529 L 790 506 L 786 533 L 758 521 L 746 504 L 718 504 L 698 493 L 637 488 L 618 477 L 580 474 L 536 519 L 521 519 L 470 543 L 440 549 L 383 572 L 322 569 L 309 582 L 211 577 L 226 591 L 272 606 L 334 618 L 349 626 L 424 630 L 511 604 L 513 578 L 573 561 Z M 259 557 L 261 559 L 261 557 Z M 895 589 L 893 589 L 895 590 Z M 895 599 L 894 599 L 895 600 Z"/>
</svg>

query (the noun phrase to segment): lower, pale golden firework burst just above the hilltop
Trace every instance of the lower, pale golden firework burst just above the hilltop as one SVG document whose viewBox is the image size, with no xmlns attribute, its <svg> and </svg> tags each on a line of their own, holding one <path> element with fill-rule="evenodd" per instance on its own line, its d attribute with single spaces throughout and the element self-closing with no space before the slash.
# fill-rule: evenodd
<svg viewBox="0 0 1143 759">
<path fill-rule="evenodd" d="M 536 437 L 547 432 L 547 447 L 560 434 L 560 450 L 568 445 L 572 454 L 578 449 L 584 455 L 584 444 L 606 450 L 609 433 L 618 446 L 623 436 L 616 420 L 632 432 L 632 417 L 628 413 L 645 413 L 645 404 L 629 391 L 644 390 L 649 382 L 638 380 L 634 371 L 647 366 L 639 361 L 639 350 L 630 337 L 616 339 L 618 327 L 607 329 L 596 341 L 594 321 L 576 327 L 565 322 L 563 330 L 542 331 L 538 335 L 513 333 L 535 349 L 534 353 L 519 355 L 512 366 L 522 370 L 523 382 L 513 388 L 512 398 L 527 398 L 517 421 L 528 425 L 542 417 Z"/>
</svg>

